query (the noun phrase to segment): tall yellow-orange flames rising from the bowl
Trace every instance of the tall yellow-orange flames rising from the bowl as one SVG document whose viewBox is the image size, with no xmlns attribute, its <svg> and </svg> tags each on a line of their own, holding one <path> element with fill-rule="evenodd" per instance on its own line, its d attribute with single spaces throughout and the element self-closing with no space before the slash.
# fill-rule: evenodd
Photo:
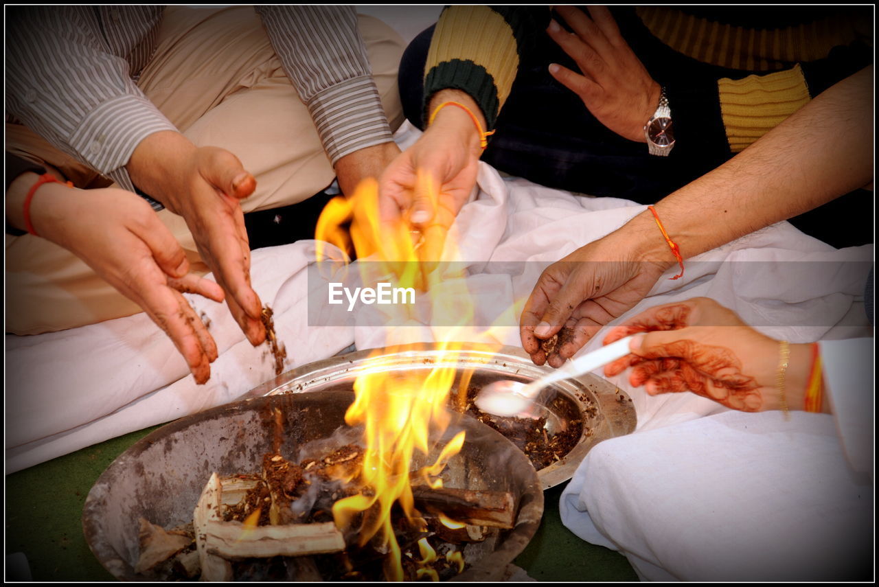
<svg viewBox="0 0 879 587">
<path fill-rule="evenodd" d="M 435 196 L 436 185 L 427 183 L 432 185 Z M 342 228 L 347 221 L 351 221 L 350 233 Z M 376 352 L 357 377 L 355 400 L 345 414 L 347 424 L 360 424 L 364 428 L 365 455 L 360 482 L 365 490 L 336 502 L 333 517 L 340 529 L 357 530 L 361 546 L 371 540 L 375 545 L 378 540 L 377 546 L 388 553 L 385 562 L 387 578 L 399 581 L 405 577 L 400 547 L 391 525 L 391 510 L 399 504 L 412 524 L 426 528 L 414 506 L 410 476 L 434 489 L 441 487 L 440 473 L 461 451 L 464 443 L 464 432 L 461 431 L 447 443 L 432 465 L 421 467 L 414 475 L 410 470 L 418 454 L 423 459 L 432 453 L 435 438 L 439 438 L 451 422 L 447 406 L 457 367 L 450 365 L 454 365 L 462 348 L 462 344 L 451 341 L 461 339 L 461 329 L 472 322 L 473 304 L 469 302 L 471 298 L 463 275 L 450 276 L 447 268 L 440 271 L 437 263 L 419 262 L 425 260 L 419 259 L 419 252 L 424 254 L 425 250 L 435 251 L 436 248 L 427 246 L 422 249 L 423 236 L 414 233 L 407 222 L 400 221 L 392 226 L 380 223 L 378 185 L 374 180 L 361 183 L 351 198 L 331 200 L 317 222 L 316 233 L 318 241 L 335 244 L 342 250 L 351 250 L 352 247 L 359 259 L 368 261 L 368 264 L 358 264 L 364 285 L 373 283 L 377 275 L 384 280 L 392 276 L 396 281 L 394 286 L 414 287 L 429 296 L 432 316 L 443 316 L 442 322 L 447 322 L 448 316 L 456 318 L 454 323 L 457 326 L 444 327 L 441 331 L 432 329 L 435 337 L 445 341 L 439 346 L 444 353 L 442 363 L 446 366 L 393 371 L 382 368 L 381 355 L 385 353 Z M 323 253 L 323 244 L 318 243 L 318 261 L 324 258 Z M 454 258 L 454 239 L 446 243 L 446 253 L 445 258 Z M 429 259 L 432 262 L 438 260 Z M 443 294 L 432 295 L 432 290 L 435 291 L 440 284 Z M 392 323 L 414 323 L 415 316 L 407 313 L 415 310 L 409 306 L 392 306 L 389 311 L 396 313 L 391 315 Z M 405 340 L 408 331 L 403 328 L 393 330 L 391 336 L 398 337 L 398 340 L 389 344 L 385 351 L 393 352 L 399 345 L 412 342 Z M 459 382 L 460 396 L 466 394 L 469 376 L 470 373 L 465 373 Z M 462 400 L 459 404 L 463 407 Z M 426 539 L 419 542 L 419 548 L 422 565 L 436 560 L 436 553 Z M 456 563 L 463 569 L 463 559 Z M 437 580 L 433 569 L 418 569 L 418 577 L 421 576 Z"/>
</svg>

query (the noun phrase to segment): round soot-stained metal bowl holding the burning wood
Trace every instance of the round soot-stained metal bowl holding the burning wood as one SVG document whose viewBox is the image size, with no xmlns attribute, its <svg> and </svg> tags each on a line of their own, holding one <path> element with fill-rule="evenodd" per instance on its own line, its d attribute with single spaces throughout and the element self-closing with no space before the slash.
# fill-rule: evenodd
<svg viewBox="0 0 879 587">
<path fill-rule="evenodd" d="M 139 518 L 166 528 L 185 524 L 192 521 L 211 473 L 258 472 L 263 454 L 272 452 L 275 408 L 283 415 L 280 453 L 294 455 L 306 443 L 330 438 L 344 424 L 352 400 L 350 389 L 266 395 L 184 417 L 152 432 L 114 460 L 89 492 L 83 527 L 92 553 L 119 579 L 147 579 L 134 572 L 140 555 Z M 471 417 L 461 417 L 455 425 L 467 431 L 467 441 L 442 475 L 445 486 L 509 491 L 516 504 L 514 527 L 469 544 L 464 549 L 469 568 L 455 579 L 497 580 L 540 525 L 541 484 L 527 457 L 498 432 Z"/>
</svg>

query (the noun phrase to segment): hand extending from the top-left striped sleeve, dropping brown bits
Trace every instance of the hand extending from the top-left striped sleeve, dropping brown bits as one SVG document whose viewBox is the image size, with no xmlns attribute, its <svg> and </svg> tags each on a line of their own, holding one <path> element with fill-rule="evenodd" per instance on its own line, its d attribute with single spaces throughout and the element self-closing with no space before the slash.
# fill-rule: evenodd
<svg viewBox="0 0 879 587">
<path fill-rule="evenodd" d="M 229 151 L 196 148 L 173 132 L 141 141 L 127 169 L 135 185 L 183 216 L 236 322 L 251 344 L 261 344 L 262 302 L 251 287 L 251 250 L 239 201 L 253 193 L 256 179 Z"/>
</svg>

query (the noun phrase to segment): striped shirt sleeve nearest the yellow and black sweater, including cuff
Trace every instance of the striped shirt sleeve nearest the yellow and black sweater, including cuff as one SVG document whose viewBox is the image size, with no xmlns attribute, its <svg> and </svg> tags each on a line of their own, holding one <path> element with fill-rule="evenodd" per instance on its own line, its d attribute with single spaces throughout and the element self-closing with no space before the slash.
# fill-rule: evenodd
<svg viewBox="0 0 879 587">
<path fill-rule="evenodd" d="M 353 7 L 256 10 L 333 165 L 356 150 L 393 140 Z"/>
</svg>

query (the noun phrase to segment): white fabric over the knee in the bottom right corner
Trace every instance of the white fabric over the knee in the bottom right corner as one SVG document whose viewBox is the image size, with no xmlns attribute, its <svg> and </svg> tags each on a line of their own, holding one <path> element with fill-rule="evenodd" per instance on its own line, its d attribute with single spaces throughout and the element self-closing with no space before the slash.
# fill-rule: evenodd
<svg viewBox="0 0 879 587">
<path fill-rule="evenodd" d="M 872 481 L 848 466 L 828 415 L 730 410 L 606 440 L 559 508 L 643 579 L 871 575 Z"/>
</svg>

